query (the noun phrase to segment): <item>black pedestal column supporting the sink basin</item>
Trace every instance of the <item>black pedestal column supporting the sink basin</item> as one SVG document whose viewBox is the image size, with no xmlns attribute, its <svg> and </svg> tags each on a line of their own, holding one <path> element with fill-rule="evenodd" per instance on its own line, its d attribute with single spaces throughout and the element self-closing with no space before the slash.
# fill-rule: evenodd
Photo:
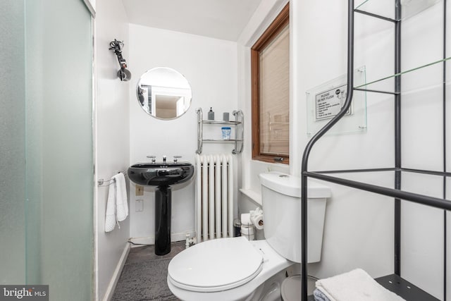
<svg viewBox="0 0 451 301">
<path fill-rule="evenodd" d="M 155 254 L 171 252 L 171 188 L 158 186 L 155 190 Z"/>
</svg>

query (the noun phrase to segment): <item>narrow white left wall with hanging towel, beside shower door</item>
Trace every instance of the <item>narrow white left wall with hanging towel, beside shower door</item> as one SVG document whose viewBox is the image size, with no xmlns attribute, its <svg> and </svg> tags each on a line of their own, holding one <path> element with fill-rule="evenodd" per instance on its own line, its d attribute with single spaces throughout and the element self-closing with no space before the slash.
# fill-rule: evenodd
<svg viewBox="0 0 451 301">
<path fill-rule="evenodd" d="M 129 162 L 129 82 L 121 82 L 116 73 L 119 63 L 109 42 L 123 40 L 124 58 L 130 60 L 128 21 L 121 0 L 98 0 L 95 19 L 95 141 L 96 178 L 109 179 L 118 171 L 128 168 Z M 132 74 L 132 76 L 136 76 Z M 96 183 L 97 184 L 97 183 Z M 97 252 L 96 252 L 96 297 L 104 300 L 111 297 L 118 264 L 121 265 L 130 236 L 130 219 L 121 222 L 121 228 L 104 232 L 108 187 L 97 187 Z"/>
</svg>

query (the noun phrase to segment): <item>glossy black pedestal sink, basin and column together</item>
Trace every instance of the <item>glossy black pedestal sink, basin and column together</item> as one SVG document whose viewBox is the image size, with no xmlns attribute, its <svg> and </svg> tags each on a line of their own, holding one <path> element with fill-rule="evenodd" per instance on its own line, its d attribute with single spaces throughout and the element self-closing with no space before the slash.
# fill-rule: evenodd
<svg viewBox="0 0 451 301">
<path fill-rule="evenodd" d="M 171 252 L 171 187 L 192 178 L 194 166 L 189 162 L 139 163 L 128 168 L 133 183 L 156 186 L 155 190 L 155 254 Z"/>
</svg>

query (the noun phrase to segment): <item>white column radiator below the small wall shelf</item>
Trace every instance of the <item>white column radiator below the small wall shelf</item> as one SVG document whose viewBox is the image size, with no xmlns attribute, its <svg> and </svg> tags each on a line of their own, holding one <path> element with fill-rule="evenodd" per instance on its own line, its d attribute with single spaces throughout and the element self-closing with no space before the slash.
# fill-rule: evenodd
<svg viewBox="0 0 451 301">
<path fill-rule="evenodd" d="M 233 157 L 196 155 L 196 240 L 233 236 Z"/>
</svg>

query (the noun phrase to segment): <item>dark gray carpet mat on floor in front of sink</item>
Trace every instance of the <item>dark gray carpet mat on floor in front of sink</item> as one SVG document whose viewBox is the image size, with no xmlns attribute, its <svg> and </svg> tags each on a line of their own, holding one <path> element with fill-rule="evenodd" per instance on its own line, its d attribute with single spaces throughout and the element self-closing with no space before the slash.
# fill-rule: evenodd
<svg viewBox="0 0 451 301">
<path fill-rule="evenodd" d="M 166 283 L 170 261 L 166 258 L 125 264 L 112 300 L 178 300 Z"/>
</svg>

